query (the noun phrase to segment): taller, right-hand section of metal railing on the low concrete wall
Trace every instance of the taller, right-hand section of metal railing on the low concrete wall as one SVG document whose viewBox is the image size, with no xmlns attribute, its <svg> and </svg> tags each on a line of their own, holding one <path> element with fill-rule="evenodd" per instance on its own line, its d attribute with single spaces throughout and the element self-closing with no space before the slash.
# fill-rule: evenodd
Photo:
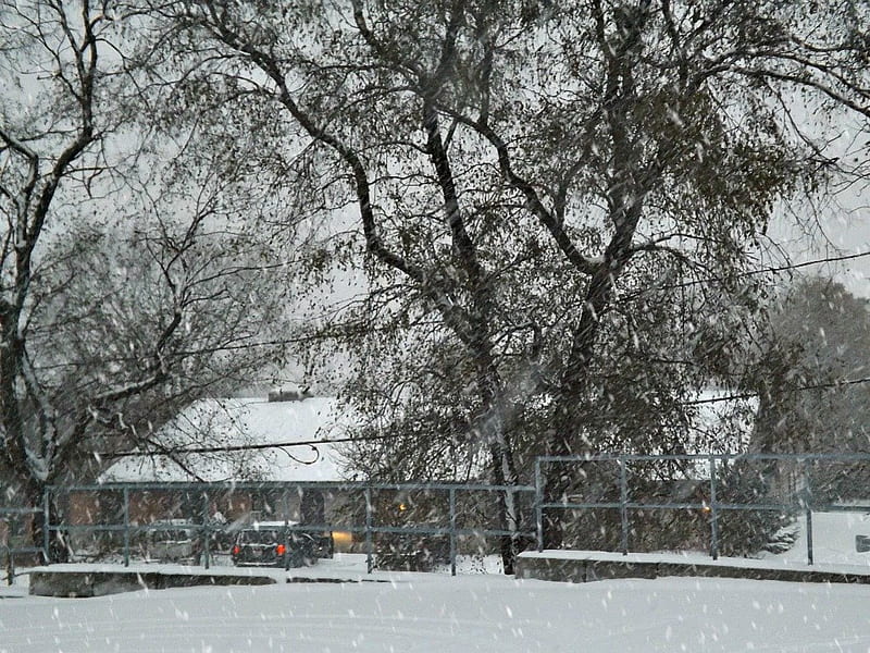
<svg viewBox="0 0 870 653">
<path fill-rule="evenodd" d="M 562 471 L 554 475 L 554 467 Z M 548 478 L 580 478 L 562 482 L 552 496 Z M 681 484 L 682 483 L 682 491 Z M 646 494 L 635 492 L 645 488 Z M 592 490 L 589 490 L 592 488 Z M 650 490 L 650 488 L 652 490 Z M 656 489 L 659 491 L 657 492 Z M 813 564 L 812 514 L 870 512 L 870 454 L 704 454 L 543 456 L 535 461 L 535 527 L 538 550 L 544 547 L 548 512 L 604 513 L 619 523 L 623 554 L 637 551 L 632 535 L 634 515 L 678 512 L 696 523 L 706 522 L 709 554 L 722 547 L 725 517 L 769 514 L 806 520 L 807 564 Z M 561 521 L 566 521 L 564 517 Z M 743 531 L 744 534 L 746 531 Z"/>
</svg>

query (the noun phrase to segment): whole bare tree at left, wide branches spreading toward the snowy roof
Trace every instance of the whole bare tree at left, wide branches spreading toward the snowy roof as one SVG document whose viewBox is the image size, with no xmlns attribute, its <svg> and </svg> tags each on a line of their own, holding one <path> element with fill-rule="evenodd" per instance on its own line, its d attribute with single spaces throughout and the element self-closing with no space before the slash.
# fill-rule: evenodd
<svg viewBox="0 0 870 653">
<path fill-rule="evenodd" d="M 213 161 L 140 148 L 126 20 L 110 2 L 0 5 L 0 473 L 29 505 L 94 480 L 95 452 L 172 454 L 153 429 L 250 382 L 282 317 Z"/>
</svg>

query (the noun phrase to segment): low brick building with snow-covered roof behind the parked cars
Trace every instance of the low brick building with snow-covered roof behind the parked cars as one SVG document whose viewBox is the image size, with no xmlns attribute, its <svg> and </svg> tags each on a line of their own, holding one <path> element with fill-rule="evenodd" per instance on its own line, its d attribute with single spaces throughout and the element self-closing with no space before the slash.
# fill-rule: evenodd
<svg viewBox="0 0 870 653">
<path fill-rule="evenodd" d="M 341 456 L 328 441 L 357 423 L 337 399 L 306 393 L 201 399 L 153 434 L 151 451 L 119 457 L 99 479 L 104 489 L 69 492 L 64 523 L 324 523 L 337 493 L 282 483 L 340 481 Z M 221 486 L 189 485 L 203 482 Z M 100 538 L 88 538 L 75 549 L 99 549 Z"/>
</svg>

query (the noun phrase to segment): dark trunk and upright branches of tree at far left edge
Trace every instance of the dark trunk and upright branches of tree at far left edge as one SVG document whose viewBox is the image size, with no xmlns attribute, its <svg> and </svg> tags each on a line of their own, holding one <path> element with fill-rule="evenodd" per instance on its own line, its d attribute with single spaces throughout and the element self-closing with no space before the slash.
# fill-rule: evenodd
<svg viewBox="0 0 870 653">
<path fill-rule="evenodd" d="M 4 217 L 0 296 L 0 406 L 3 463 L 28 501 L 38 501 L 53 461 L 80 436 L 85 424 L 59 433 L 60 424 L 28 354 L 37 245 L 64 184 L 85 185 L 100 167 L 98 67 L 110 24 L 104 7 L 83 2 L 2 5 L 2 73 L 8 94 L 0 124 L 0 196 Z M 39 94 L 39 102 L 22 102 Z M 48 104 L 45 97 L 57 98 Z M 96 153 L 95 153 L 96 152 Z M 36 427 L 33 431 L 32 428 Z"/>
</svg>

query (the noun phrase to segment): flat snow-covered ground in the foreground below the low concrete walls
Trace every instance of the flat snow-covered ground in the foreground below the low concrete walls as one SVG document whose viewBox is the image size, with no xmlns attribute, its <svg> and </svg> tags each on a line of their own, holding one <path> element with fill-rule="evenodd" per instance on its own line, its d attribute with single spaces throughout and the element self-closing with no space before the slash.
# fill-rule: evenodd
<svg viewBox="0 0 870 653">
<path fill-rule="evenodd" d="M 99 599 L 5 594 L 3 653 L 870 651 L 861 586 L 419 574 Z"/>
</svg>

